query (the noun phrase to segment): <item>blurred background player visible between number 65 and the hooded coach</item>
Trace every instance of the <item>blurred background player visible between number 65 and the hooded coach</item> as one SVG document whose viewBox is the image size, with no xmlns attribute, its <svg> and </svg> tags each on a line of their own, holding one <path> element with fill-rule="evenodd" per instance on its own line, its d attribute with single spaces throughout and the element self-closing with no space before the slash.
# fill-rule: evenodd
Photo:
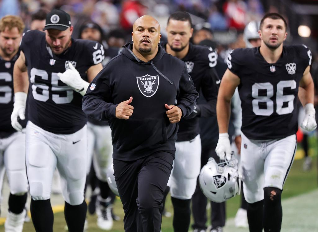
<svg viewBox="0 0 318 232">
<path fill-rule="evenodd" d="M 90 39 L 99 43 L 103 42 L 104 34 L 101 27 L 94 22 L 84 23 L 79 30 L 81 39 Z M 106 44 L 107 45 L 107 44 Z M 123 44 L 122 44 L 123 45 Z M 118 55 L 119 49 L 105 48 L 105 59 L 102 64 Z M 105 63 L 104 63 L 105 62 Z M 113 227 L 112 205 L 115 200 L 115 194 L 110 190 L 107 184 L 107 168 L 113 163 L 113 145 L 112 145 L 112 131 L 107 121 L 100 121 L 88 117 L 88 159 L 93 157 L 93 170 L 88 175 L 87 180 L 90 181 L 92 190 L 94 186 L 94 172 L 97 176 L 97 185 L 100 189 L 98 194 L 97 204 L 97 226 L 101 229 L 109 230 Z M 90 171 L 91 162 L 88 160 L 88 171 Z M 96 194 L 93 194 L 88 205 L 88 212 L 93 214 L 95 212 Z M 115 217 L 115 215 L 114 215 Z"/>
</svg>

